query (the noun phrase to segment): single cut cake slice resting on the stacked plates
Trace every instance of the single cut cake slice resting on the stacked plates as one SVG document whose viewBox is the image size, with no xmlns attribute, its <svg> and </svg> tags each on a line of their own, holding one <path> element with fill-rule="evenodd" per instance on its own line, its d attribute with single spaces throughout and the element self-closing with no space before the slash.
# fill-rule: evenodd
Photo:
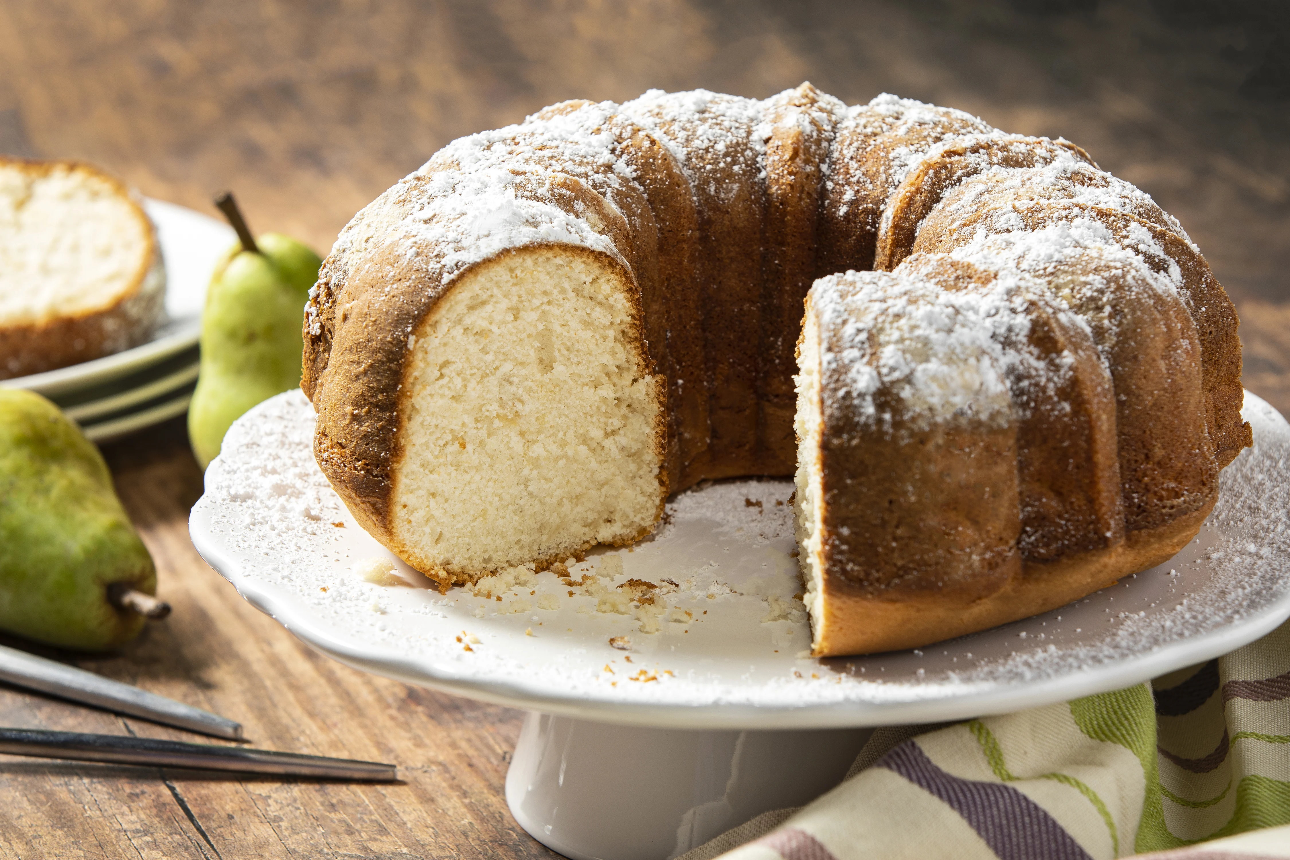
<svg viewBox="0 0 1290 860">
<path fill-rule="evenodd" d="M 0 156 L 0 379 L 138 346 L 164 298 L 156 231 L 125 186 Z"/>
</svg>

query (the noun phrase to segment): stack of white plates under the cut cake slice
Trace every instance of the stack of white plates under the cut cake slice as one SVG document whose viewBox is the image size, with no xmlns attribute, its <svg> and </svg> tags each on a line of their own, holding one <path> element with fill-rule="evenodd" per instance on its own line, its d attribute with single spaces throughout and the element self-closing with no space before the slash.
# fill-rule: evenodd
<svg viewBox="0 0 1290 860">
<path fill-rule="evenodd" d="M 0 380 L 54 401 L 85 436 L 106 442 L 188 409 L 197 384 L 197 338 L 206 284 L 233 231 L 206 215 L 159 200 L 143 208 L 157 227 L 165 259 L 165 316 L 147 343 L 43 374 Z"/>
</svg>

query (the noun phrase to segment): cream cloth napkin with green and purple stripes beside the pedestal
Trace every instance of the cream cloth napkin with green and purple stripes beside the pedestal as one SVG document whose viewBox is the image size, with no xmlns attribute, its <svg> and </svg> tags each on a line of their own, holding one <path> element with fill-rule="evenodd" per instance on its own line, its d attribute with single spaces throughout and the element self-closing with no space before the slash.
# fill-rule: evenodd
<svg viewBox="0 0 1290 860">
<path fill-rule="evenodd" d="M 1149 856 L 1290 857 L 1290 621 L 1127 690 L 946 727 L 880 728 L 828 794 L 760 815 L 680 860 L 1158 851 Z"/>
</svg>

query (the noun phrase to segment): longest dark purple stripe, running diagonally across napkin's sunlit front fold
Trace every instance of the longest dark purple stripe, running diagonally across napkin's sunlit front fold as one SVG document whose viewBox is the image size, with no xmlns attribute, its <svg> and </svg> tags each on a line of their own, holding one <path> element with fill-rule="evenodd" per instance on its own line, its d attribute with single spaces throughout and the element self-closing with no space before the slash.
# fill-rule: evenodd
<svg viewBox="0 0 1290 860">
<path fill-rule="evenodd" d="M 1015 788 L 951 776 L 912 740 L 875 766 L 899 774 L 949 806 L 1000 860 L 1093 860 L 1044 807 Z"/>
</svg>

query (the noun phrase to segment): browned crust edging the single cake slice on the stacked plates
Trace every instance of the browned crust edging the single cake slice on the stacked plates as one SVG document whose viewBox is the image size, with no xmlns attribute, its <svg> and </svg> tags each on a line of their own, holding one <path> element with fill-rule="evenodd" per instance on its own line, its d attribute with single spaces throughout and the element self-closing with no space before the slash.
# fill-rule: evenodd
<svg viewBox="0 0 1290 860">
<path fill-rule="evenodd" d="M 154 268 L 161 266 L 161 253 L 152 220 L 130 190 L 115 177 L 79 161 L 36 161 L 0 155 L 0 169 L 17 169 L 32 178 L 59 170 L 93 177 L 129 206 L 147 242 L 143 263 L 111 306 L 39 324 L 0 326 L 0 379 L 57 370 L 143 343 L 160 316 L 165 294 L 164 290 L 144 293 L 142 289 L 150 275 L 159 276 Z"/>
</svg>

